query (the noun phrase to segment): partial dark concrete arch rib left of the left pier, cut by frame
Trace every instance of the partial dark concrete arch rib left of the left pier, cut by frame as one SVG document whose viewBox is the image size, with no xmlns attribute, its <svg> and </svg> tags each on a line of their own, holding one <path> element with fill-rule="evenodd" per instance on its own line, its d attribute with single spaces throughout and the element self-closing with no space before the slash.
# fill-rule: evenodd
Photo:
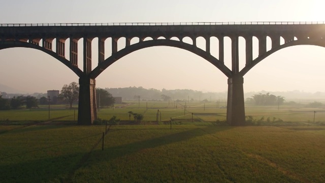
<svg viewBox="0 0 325 183">
<path fill-rule="evenodd" d="M 79 68 L 72 66 L 72 64 L 69 60 L 67 60 L 66 58 L 59 56 L 55 52 L 45 49 L 39 45 L 31 44 L 31 43 L 27 43 L 27 42 L 21 42 L 21 41 L 5 41 L 3 43 L 0 43 L 0 50 L 7 49 L 7 48 L 19 48 L 19 47 L 20 48 L 33 48 L 33 49 L 43 51 L 43 52 L 53 56 L 57 60 L 59 60 L 62 64 L 66 65 L 74 73 L 76 73 L 78 77 L 81 77 L 83 75 L 83 72 Z"/>
</svg>

